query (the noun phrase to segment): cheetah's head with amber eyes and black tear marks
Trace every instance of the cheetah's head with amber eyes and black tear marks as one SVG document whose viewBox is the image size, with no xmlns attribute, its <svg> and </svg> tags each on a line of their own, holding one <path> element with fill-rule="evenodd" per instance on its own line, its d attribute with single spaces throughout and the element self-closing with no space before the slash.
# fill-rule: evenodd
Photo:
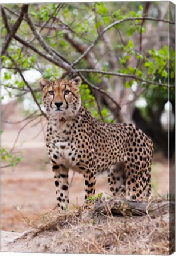
<svg viewBox="0 0 176 256">
<path fill-rule="evenodd" d="M 81 78 L 72 80 L 47 81 L 39 80 L 39 87 L 43 93 L 43 103 L 48 114 L 62 117 L 75 116 L 81 107 L 79 85 Z"/>
</svg>

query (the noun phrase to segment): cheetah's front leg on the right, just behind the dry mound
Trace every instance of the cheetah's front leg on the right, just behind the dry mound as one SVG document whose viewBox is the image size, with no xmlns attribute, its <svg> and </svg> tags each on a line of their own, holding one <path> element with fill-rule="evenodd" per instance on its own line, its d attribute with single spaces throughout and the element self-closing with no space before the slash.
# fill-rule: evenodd
<svg viewBox="0 0 176 256">
<path fill-rule="evenodd" d="M 96 171 L 94 169 L 87 169 L 84 174 L 85 178 L 85 200 L 88 197 L 94 196 L 96 184 Z"/>
</svg>

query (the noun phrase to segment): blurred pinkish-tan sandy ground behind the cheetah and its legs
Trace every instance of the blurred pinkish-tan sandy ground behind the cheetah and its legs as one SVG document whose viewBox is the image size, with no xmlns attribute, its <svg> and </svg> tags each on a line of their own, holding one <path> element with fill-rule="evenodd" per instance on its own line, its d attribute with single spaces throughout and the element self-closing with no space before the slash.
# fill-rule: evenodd
<svg viewBox="0 0 176 256">
<path fill-rule="evenodd" d="M 10 121 L 21 120 L 21 115 L 12 115 Z M 25 122 L 24 122 L 25 123 Z M 2 147 L 11 148 L 18 130 L 24 123 L 4 124 Z M 44 122 L 43 122 L 44 126 Z M 39 120 L 30 123 L 18 137 L 15 150 L 23 151 L 24 160 L 17 167 L 1 169 L 1 229 L 23 232 L 28 228 L 21 215 L 31 217 L 56 206 L 55 185 L 44 146 L 44 136 Z M 2 165 L 4 163 L 2 162 Z M 168 191 L 168 161 L 156 154 L 152 165 L 153 193 L 165 194 Z M 73 172 L 69 173 L 71 181 Z M 110 193 L 107 176 L 97 180 L 97 193 Z M 84 178 L 75 174 L 69 190 L 71 204 L 81 205 L 84 201 Z M 19 211 L 20 210 L 20 211 Z"/>
</svg>

